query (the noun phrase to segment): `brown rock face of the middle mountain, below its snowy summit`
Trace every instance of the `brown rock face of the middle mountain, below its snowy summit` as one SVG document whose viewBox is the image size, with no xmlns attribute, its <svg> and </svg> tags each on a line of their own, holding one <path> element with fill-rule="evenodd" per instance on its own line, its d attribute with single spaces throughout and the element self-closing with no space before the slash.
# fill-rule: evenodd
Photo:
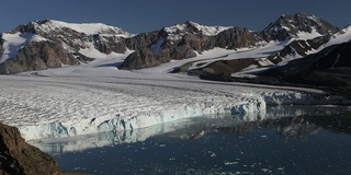
<svg viewBox="0 0 351 175">
<path fill-rule="evenodd" d="M 203 35 L 201 31 L 196 30 L 195 26 L 188 24 L 188 31 L 182 31 L 180 39 L 173 39 L 169 37 L 169 33 L 160 31 L 156 37 L 152 35 L 152 43 L 145 43 L 143 46 L 147 46 L 149 50 L 152 51 L 154 57 L 149 57 L 150 54 L 143 55 L 140 50 L 128 56 L 122 69 L 141 69 L 155 67 L 163 62 L 169 62 L 170 60 L 180 60 L 186 58 L 196 57 L 195 51 L 202 52 L 204 50 L 213 49 L 214 47 L 222 47 L 228 49 L 251 47 L 256 46 L 259 42 L 259 37 L 254 33 L 250 33 L 247 28 L 229 28 L 219 33 L 216 36 Z M 180 33 L 180 32 L 179 32 Z M 141 37 L 143 36 L 143 37 Z M 146 34 L 139 37 L 144 38 Z M 158 45 L 162 42 L 159 48 L 155 49 L 152 46 Z M 148 56 L 147 58 L 144 56 Z"/>
</svg>

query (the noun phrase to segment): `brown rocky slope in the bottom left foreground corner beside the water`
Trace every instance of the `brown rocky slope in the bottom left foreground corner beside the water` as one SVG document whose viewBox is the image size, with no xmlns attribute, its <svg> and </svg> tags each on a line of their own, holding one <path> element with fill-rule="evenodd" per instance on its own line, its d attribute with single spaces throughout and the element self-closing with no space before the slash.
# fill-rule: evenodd
<svg viewBox="0 0 351 175">
<path fill-rule="evenodd" d="M 0 174 L 63 174 L 53 158 L 27 144 L 14 127 L 0 124 Z"/>
</svg>

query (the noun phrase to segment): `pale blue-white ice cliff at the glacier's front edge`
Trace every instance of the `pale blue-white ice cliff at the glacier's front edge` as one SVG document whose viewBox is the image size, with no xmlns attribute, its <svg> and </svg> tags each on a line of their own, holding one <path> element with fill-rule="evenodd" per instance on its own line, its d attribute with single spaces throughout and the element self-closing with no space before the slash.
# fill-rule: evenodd
<svg viewBox="0 0 351 175">
<path fill-rule="evenodd" d="M 133 116 L 106 117 L 98 116 L 79 121 L 63 121 L 43 125 L 19 127 L 22 136 L 26 140 L 43 138 L 65 138 L 77 137 L 106 131 L 133 130 L 147 128 L 150 126 L 171 122 L 179 119 L 188 119 L 205 115 L 241 115 L 248 120 L 252 116 L 263 118 L 265 103 L 261 101 L 250 101 L 240 103 L 194 103 L 180 107 L 165 108 L 156 112 L 136 112 Z"/>
</svg>

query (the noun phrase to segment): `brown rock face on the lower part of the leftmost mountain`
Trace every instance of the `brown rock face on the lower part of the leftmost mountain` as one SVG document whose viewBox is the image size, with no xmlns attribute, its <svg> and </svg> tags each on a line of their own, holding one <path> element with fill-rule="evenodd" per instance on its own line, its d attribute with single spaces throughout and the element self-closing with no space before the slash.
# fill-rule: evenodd
<svg viewBox="0 0 351 175">
<path fill-rule="evenodd" d="M 0 65 L 0 73 L 18 73 L 77 63 L 78 59 L 56 43 L 30 42 L 14 58 Z"/>
</svg>

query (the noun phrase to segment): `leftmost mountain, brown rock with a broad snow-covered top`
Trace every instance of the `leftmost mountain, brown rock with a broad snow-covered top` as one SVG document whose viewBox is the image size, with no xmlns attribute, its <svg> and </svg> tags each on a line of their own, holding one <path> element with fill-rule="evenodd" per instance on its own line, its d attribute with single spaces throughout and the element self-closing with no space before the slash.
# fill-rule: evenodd
<svg viewBox="0 0 351 175">
<path fill-rule="evenodd" d="M 126 52 L 133 34 L 105 24 L 34 21 L 2 34 L 1 73 L 59 68 Z"/>
</svg>

